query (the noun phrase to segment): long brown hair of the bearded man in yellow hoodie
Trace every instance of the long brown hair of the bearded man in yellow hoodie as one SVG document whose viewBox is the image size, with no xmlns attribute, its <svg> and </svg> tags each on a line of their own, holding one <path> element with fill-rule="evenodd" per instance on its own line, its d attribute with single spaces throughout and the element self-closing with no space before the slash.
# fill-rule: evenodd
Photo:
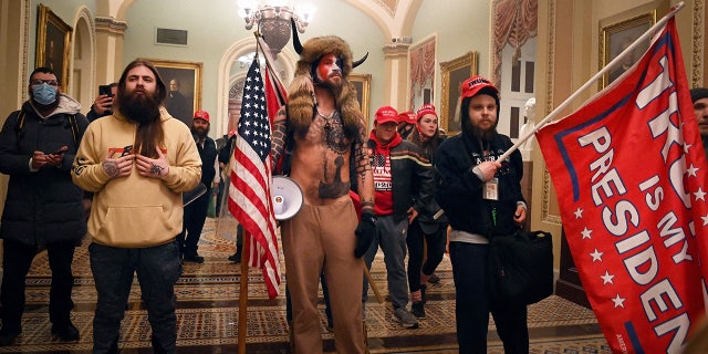
<svg viewBox="0 0 708 354">
<path fill-rule="evenodd" d="M 137 66 L 145 66 L 149 69 L 155 75 L 155 94 L 154 97 L 157 100 L 158 107 L 163 105 L 165 102 L 165 97 L 167 97 L 167 86 L 165 86 L 165 82 L 159 76 L 159 72 L 155 65 L 146 60 L 134 60 L 131 62 L 123 74 L 121 75 L 121 81 L 118 81 L 118 95 L 126 91 L 126 81 L 127 75 L 131 70 Z M 135 133 L 135 143 L 133 144 L 133 149 L 136 154 L 140 154 L 143 156 L 147 156 L 150 158 L 157 157 L 156 148 L 164 147 L 165 143 L 165 129 L 163 127 L 163 122 L 160 119 L 159 110 L 158 114 L 155 117 L 152 117 L 146 123 L 138 123 L 137 132 Z"/>
</svg>

